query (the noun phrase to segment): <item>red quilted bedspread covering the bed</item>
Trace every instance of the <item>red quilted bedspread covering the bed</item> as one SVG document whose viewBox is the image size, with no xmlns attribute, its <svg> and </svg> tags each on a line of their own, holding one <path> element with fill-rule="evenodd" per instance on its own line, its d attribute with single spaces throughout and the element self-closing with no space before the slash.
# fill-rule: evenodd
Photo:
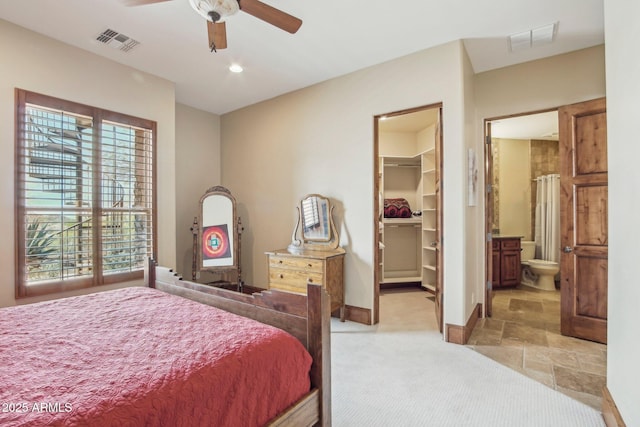
<svg viewBox="0 0 640 427">
<path fill-rule="evenodd" d="M 310 366 L 280 329 L 149 288 L 9 307 L 0 425 L 263 425 Z"/>
</svg>

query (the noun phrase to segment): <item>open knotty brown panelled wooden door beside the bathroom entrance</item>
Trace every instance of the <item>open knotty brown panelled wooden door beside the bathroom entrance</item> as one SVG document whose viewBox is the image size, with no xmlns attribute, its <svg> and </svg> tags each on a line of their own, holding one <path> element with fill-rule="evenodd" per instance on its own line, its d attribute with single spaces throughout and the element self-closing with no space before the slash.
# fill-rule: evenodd
<svg viewBox="0 0 640 427">
<path fill-rule="evenodd" d="M 607 342 L 607 110 L 560 108 L 561 331 Z"/>
</svg>

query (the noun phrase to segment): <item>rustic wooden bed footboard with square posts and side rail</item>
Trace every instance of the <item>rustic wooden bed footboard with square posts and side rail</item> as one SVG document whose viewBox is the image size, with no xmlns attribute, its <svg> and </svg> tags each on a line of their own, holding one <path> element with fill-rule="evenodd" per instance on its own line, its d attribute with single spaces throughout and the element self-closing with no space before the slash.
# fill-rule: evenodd
<svg viewBox="0 0 640 427">
<path fill-rule="evenodd" d="M 152 259 L 145 265 L 144 278 L 150 288 L 255 319 L 296 337 L 313 358 L 311 391 L 269 425 L 331 425 L 331 301 L 321 285 L 308 283 L 307 295 L 277 290 L 246 295 L 183 280 Z"/>
</svg>

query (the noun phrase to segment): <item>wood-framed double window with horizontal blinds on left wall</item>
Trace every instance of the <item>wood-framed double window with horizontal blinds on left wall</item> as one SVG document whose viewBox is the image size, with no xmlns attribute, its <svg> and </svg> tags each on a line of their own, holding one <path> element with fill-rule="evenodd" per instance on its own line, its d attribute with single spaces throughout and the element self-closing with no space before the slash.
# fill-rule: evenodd
<svg viewBox="0 0 640 427">
<path fill-rule="evenodd" d="M 155 138 L 155 122 L 16 90 L 16 297 L 143 276 Z"/>
</svg>

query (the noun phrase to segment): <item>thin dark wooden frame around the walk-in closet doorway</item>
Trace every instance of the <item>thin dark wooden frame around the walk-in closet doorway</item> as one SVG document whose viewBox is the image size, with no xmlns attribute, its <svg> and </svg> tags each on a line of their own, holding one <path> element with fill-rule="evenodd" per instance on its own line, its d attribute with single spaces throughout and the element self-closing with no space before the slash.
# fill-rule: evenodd
<svg viewBox="0 0 640 427">
<path fill-rule="evenodd" d="M 413 108 L 409 108 L 406 110 L 399 110 L 399 111 L 394 111 L 391 113 L 385 113 L 385 114 L 377 114 L 375 116 L 373 116 L 373 265 L 374 265 L 374 269 L 373 269 L 373 315 L 371 317 L 372 320 L 372 324 L 378 324 L 380 323 L 380 265 L 381 265 L 381 259 L 380 259 L 380 233 L 379 233 L 379 223 L 380 223 L 380 218 L 379 218 L 379 213 L 380 213 L 380 161 L 379 161 L 379 154 L 380 154 L 380 150 L 379 150 L 379 144 L 380 144 L 380 138 L 379 138 L 379 121 L 383 118 L 387 118 L 387 117 L 395 117 L 395 116 L 401 116 L 404 114 L 410 114 L 410 113 L 415 113 L 418 111 L 422 111 L 422 110 L 431 110 L 431 109 L 439 109 L 439 119 L 438 119 L 438 126 L 439 126 L 439 130 L 438 132 L 436 132 L 436 134 L 439 134 L 439 138 L 437 138 L 436 140 L 436 146 L 437 148 L 437 153 L 439 153 L 439 158 L 436 160 L 439 163 L 439 170 L 437 172 L 437 179 L 439 180 L 440 183 L 440 203 L 439 203 L 439 212 L 438 215 L 440 215 L 440 218 L 442 219 L 442 145 L 443 145 L 443 140 L 444 140 L 444 135 L 443 135 L 443 124 L 442 124 L 442 116 L 443 116 L 443 103 L 442 102 L 438 102 L 438 103 L 434 103 L 434 104 L 428 104 L 428 105 L 423 105 L 423 106 L 419 106 L 419 107 L 413 107 Z M 442 220 L 440 220 L 440 230 L 438 231 L 438 234 L 440 235 L 440 257 L 438 260 L 438 264 L 437 264 L 437 269 L 438 269 L 438 274 L 437 274 L 437 280 L 442 282 L 442 266 L 444 264 L 443 262 L 443 256 L 442 256 Z M 422 257 L 422 256 L 421 256 Z M 443 292 L 443 284 L 439 283 L 439 288 L 441 291 L 441 295 Z M 440 313 L 440 325 L 442 325 L 442 312 Z M 442 332 L 442 328 L 441 331 Z"/>
</svg>

